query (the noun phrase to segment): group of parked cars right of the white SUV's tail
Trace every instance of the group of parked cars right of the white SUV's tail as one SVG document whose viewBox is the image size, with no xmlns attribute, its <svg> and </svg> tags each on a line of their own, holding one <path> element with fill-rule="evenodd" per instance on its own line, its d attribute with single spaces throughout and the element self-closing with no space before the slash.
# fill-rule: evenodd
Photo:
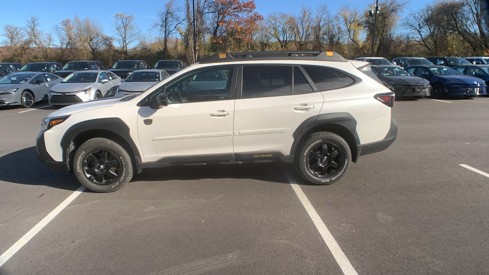
<svg viewBox="0 0 489 275">
<path fill-rule="evenodd" d="M 487 94 L 489 57 L 357 57 L 374 65 L 372 71 L 396 95 L 475 97 Z"/>
</svg>

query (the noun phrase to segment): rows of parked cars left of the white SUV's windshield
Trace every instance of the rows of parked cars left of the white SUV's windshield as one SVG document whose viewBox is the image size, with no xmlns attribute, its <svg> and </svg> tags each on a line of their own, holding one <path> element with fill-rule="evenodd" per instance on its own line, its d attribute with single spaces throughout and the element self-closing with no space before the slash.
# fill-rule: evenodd
<svg viewBox="0 0 489 275">
<path fill-rule="evenodd" d="M 143 92 L 185 66 L 181 60 L 159 60 L 150 69 L 142 60 L 117 61 L 105 70 L 100 61 L 0 63 L 0 106 L 31 107 L 48 99 L 64 106 L 109 96 Z"/>
</svg>

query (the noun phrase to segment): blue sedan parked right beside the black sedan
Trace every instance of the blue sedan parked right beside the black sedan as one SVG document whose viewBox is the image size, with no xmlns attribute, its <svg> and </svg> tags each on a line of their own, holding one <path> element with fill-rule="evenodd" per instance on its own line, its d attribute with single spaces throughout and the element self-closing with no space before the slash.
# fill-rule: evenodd
<svg viewBox="0 0 489 275">
<path fill-rule="evenodd" d="M 476 97 L 487 94 L 487 85 L 484 80 L 462 73 L 445 66 L 410 66 L 404 68 L 411 74 L 429 80 L 433 89 L 433 97 L 446 95 Z"/>
</svg>

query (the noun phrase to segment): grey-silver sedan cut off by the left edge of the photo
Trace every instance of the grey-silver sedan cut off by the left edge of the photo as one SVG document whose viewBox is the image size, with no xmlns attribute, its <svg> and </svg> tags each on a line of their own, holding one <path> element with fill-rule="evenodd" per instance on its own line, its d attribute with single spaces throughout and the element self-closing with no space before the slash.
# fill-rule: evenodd
<svg viewBox="0 0 489 275">
<path fill-rule="evenodd" d="M 29 108 L 47 99 L 48 90 L 63 80 L 52 73 L 16 72 L 0 78 L 0 106 L 21 105 Z"/>
</svg>

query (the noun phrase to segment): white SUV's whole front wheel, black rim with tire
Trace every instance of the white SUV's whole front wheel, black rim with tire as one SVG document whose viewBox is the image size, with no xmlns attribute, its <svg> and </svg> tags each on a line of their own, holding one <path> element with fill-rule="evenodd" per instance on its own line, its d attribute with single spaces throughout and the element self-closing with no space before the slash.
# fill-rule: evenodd
<svg viewBox="0 0 489 275">
<path fill-rule="evenodd" d="M 107 138 L 92 138 L 76 150 L 73 171 L 88 189 L 113 192 L 129 183 L 133 177 L 133 163 L 120 144 Z"/>
</svg>

